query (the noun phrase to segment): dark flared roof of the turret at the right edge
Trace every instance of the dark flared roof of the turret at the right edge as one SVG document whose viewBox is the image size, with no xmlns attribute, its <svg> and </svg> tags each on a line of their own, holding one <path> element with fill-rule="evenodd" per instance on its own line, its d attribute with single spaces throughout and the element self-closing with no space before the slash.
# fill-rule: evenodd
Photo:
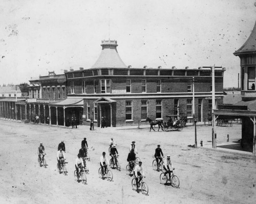
<svg viewBox="0 0 256 204">
<path fill-rule="evenodd" d="M 243 46 L 240 47 L 233 54 L 235 56 L 239 56 L 242 54 L 255 54 L 255 53 L 256 53 L 256 22 L 254 24 L 253 30 L 252 30 L 249 38 L 246 40 L 246 42 L 243 44 Z"/>
</svg>

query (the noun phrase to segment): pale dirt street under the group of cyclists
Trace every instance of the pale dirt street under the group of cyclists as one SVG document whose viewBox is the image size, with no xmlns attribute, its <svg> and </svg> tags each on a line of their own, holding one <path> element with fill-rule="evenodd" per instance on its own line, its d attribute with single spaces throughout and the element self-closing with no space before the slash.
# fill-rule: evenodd
<svg viewBox="0 0 256 204">
<path fill-rule="evenodd" d="M 217 127 L 218 142 L 238 141 L 241 125 Z M 91 162 L 87 185 L 74 181 L 75 158 L 83 137 L 87 138 Z M 114 137 L 119 152 L 121 171 L 111 169 L 113 181 L 98 176 L 99 158 L 108 152 Z M 194 144 L 195 127 L 181 132 L 149 132 L 148 129 L 90 131 L 88 126 L 78 129 L 24 124 L 0 120 L 0 203 L 255 203 L 256 159 L 233 155 L 207 148 L 187 147 Z M 211 126 L 197 126 L 198 144 L 210 143 Z M 57 146 L 66 144 L 68 175 L 56 170 Z M 126 174 L 127 154 L 135 140 L 138 157 L 145 170 L 148 196 L 132 190 L 132 177 Z M 47 168 L 37 163 L 37 147 L 46 148 Z M 180 179 L 178 189 L 160 184 L 161 172 L 154 171 L 152 161 L 160 144 L 163 154 L 171 155 L 175 174 Z M 198 145 L 200 146 L 200 144 Z M 110 158 L 110 157 L 109 157 Z"/>
</svg>

